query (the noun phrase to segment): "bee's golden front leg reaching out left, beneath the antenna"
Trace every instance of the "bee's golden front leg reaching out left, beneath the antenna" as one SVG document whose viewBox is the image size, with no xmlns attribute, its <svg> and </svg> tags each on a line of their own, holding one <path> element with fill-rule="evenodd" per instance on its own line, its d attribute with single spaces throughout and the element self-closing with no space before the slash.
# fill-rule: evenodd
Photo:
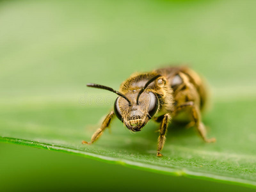
<svg viewBox="0 0 256 192">
<path fill-rule="evenodd" d="M 102 125 L 99 129 L 97 129 L 97 131 L 95 131 L 92 135 L 92 139 L 90 142 L 87 141 L 82 141 L 83 144 L 92 144 L 94 143 L 97 139 L 99 139 L 99 137 L 102 135 L 103 131 L 109 127 L 109 124 L 111 122 L 111 120 L 113 119 L 113 116 L 115 115 L 114 111 L 111 111 L 106 118 L 104 119 L 104 121 L 102 122 Z"/>
</svg>

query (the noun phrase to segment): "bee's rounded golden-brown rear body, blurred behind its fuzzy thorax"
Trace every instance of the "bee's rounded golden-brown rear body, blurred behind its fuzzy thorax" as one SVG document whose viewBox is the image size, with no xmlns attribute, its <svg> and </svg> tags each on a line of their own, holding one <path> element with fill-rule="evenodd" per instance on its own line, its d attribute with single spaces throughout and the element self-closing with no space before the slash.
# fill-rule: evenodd
<svg viewBox="0 0 256 192">
<path fill-rule="evenodd" d="M 193 102 L 200 111 L 204 109 L 207 90 L 196 72 L 188 67 L 168 67 L 156 71 L 166 78 L 168 86 L 173 90 L 173 110 L 169 111 L 170 113 L 177 111 L 177 107 L 186 102 Z M 173 114 L 172 118 L 183 122 L 193 121 L 189 108 L 184 108 L 179 113 Z"/>
</svg>

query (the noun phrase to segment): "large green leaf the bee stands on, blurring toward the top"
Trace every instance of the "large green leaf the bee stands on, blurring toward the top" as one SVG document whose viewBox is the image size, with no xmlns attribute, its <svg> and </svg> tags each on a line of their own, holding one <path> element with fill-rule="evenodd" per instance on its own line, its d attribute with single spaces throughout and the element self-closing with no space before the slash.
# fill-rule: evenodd
<svg viewBox="0 0 256 192">
<path fill-rule="evenodd" d="M 0 141 L 255 188 L 255 5 L 3 2 Z M 81 144 L 115 99 L 86 83 L 117 89 L 132 72 L 169 61 L 190 61 L 211 84 L 212 109 L 204 122 L 216 143 L 170 125 L 158 158 L 157 124 L 131 134 L 115 120 L 111 134 L 107 130 L 97 143 Z"/>
</svg>

